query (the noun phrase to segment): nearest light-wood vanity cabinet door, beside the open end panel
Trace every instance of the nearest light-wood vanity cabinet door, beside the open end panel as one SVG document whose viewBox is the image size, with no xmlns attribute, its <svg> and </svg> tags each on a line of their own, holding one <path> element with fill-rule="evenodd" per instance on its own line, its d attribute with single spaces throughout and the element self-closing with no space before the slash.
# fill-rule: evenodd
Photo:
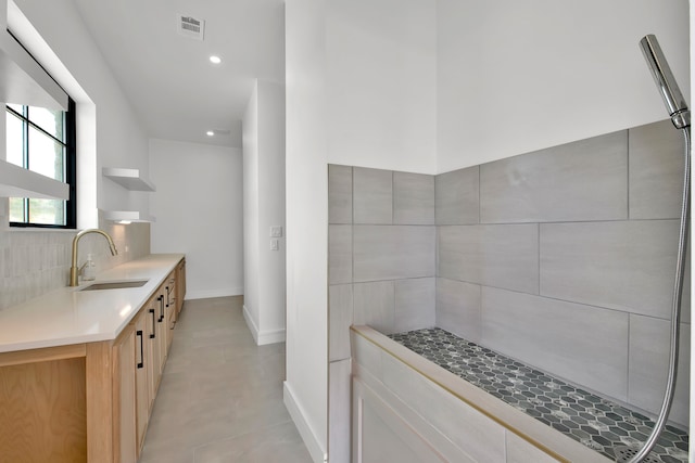
<svg viewBox="0 0 695 463">
<path fill-rule="evenodd" d="M 114 345 L 118 362 L 117 410 L 119 421 L 118 450 L 115 461 L 135 463 L 138 461 L 136 425 L 136 335 L 132 325 L 126 327 Z"/>
</svg>

